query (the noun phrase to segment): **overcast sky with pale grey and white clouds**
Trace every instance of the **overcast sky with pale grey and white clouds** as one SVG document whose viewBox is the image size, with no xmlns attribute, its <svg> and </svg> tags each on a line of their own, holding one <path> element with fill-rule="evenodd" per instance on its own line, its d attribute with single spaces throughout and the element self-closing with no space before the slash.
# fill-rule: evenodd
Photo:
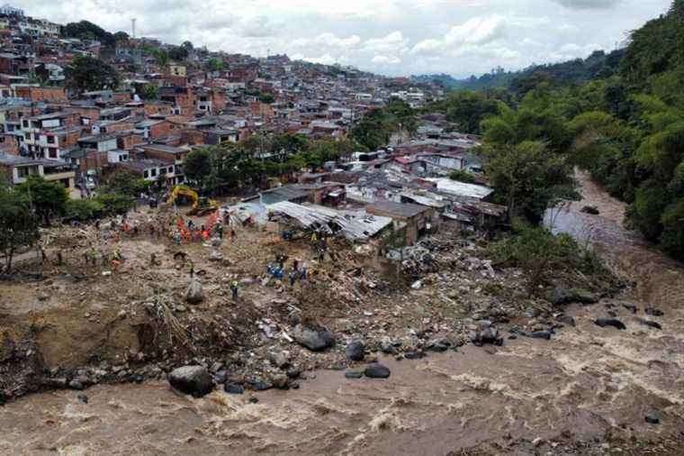
<svg viewBox="0 0 684 456">
<path fill-rule="evenodd" d="M 457 77 L 612 50 L 671 0 L 21 0 L 26 14 L 210 50 Z"/>
</svg>

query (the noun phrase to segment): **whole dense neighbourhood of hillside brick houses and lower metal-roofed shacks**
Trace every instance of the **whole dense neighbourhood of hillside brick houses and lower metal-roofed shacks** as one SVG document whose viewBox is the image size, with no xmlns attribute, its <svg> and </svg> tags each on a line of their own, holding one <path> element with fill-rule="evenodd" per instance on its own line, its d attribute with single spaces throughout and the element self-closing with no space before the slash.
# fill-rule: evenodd
<svg viewBox="0 0 684 456">
<path fill-rule="evenodd" d="M 62 30 L 10 5 L 0 7 L 0 170 L 14 184 L 40 175 L 83 194 L 112 170 L 128 169 L 175 185 L 184 182 L 184 159 L 195 148 L 255 133 L 341 139 L 392 97 L 418 107 L 444 95 L 440 87 L 414 87 L 407 78 L 284 55 L 256 59 L 186 47 L 181 62 L 162 62 L 148 50 L 173 46 L 125 37 L 105 50 L 99 41 L 67 38 Z M 79 56 L 112 65 L 120 86 L 69 91 L 65 72 Z M 412 141 L 326 163 L 244 207 L 308 223 L 334 219 L 337 229 L 361 237 L 399 222 L 409 243 L 438 219 L 498 223 L 503 212 L 487 202 L 491 189 L 448 178 L 458 169 L 477 173 L 482 163 L 470 153 L 476 140 L 446 127 L 444 118 L 428 115 Z M 340 207 L 347 212 L 331 212 Z"/>
</svg>

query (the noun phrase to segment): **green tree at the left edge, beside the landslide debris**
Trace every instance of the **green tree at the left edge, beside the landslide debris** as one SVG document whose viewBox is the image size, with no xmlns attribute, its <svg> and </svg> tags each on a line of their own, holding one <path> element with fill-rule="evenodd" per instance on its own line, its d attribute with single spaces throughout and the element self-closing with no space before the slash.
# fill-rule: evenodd
<svg viewBox="0 0 684 456">
<path fill-rule="evenodd" d="M 38 222 L 29 199 L 15 190 L 0 188 L 0 251 L 4 255 L 4 271 L 12 272 L 14 252 L 31 247 L 40 238 Z"/>
</svg>

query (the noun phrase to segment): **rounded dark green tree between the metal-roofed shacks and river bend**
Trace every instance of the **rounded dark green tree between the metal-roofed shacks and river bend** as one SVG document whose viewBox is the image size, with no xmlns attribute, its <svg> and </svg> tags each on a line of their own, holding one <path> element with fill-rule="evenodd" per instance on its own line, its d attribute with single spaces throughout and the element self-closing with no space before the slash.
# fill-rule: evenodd
<svg viewBox="0 0 684 456">
<path fill-rule="evenodd" d="M 544 142 L 525 141 L 489 150 L 485 169 L 500 203 L 510 215 L 540 223 L 548 208 L 577 199 L 577 182 L 565 157 L 548 150 Z"/>
</svg>

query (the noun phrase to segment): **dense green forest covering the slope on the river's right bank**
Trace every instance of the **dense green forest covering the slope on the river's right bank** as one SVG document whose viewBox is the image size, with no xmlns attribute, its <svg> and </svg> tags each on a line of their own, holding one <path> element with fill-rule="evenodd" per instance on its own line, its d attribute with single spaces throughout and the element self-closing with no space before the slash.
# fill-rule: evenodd
<svg viewBox="0 0 684 456">
<path fill-rule="evenodd" d="M 684 0 L 676 0 L 626 49 L 584 60 L 586 72 L 558 65 L 512 84 L 497 114 L 484 92 L 441 107 L 466 129 L 462 119 L 483 117 L 491 183 L 514 214 L 538 222 L 545 205 L 572 196 L 570 167 L 579 166 L 629 204 L 629 226 L 684 260 L 683 45 Z"/>
</svg>

